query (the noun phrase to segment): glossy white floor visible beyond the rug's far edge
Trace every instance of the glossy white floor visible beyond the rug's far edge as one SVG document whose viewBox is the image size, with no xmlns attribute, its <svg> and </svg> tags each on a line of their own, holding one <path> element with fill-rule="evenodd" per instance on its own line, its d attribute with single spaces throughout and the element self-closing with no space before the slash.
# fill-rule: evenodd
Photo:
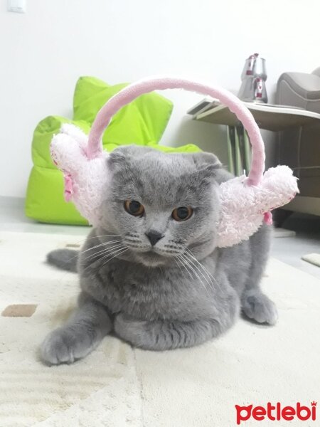
<svg viewBox="0 0 320 427">
<path fill-rule="evenodd" d="M 320 253 L 320 218 L 294 214 L 284 226 L 296 231 L 296 236 L 273 238 L 271 255 L 320 278 L 320 268 L 301 259 L 307 253 Z M 89 229 L 85 226 L 36 223 L 24 215 L 23 199 L 0 197 L 0 231 L 71 234 L 81 239 L 87 236 Z"/>
</svg>

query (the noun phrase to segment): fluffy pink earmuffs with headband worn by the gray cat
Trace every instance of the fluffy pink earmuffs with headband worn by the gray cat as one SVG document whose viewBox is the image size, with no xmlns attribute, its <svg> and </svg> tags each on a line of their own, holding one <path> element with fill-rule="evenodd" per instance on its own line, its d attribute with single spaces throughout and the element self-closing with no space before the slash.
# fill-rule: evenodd
<svg viewBox="0 0 320 427">
<path fill-rule="evenodd" d="M 299 192 L 297 179 L 287 166 L 270 168 L 265 174 L 265 146 L 252 114 L 242 102 L 222 88 L 214 88 L 181 78 L 149 78 L 127 86 L 101 108 L 87 137 L 74 125 L 63 125 L 53 137 L 53 162 L 65 177 L 65 199 L 72 200 L 80 214 L 93 225 L 100 223 L 100 205 L 111 176 L 102 150 L 101 138 L 112 116 L 139 95 L 153 90 L 191 90 L 218 98 L 234 112 L 247 130 L 252 145 L 249 176 L 237 176 L 220 184 L 218 246 L 233 246 L 247 240 L 262 225 L 272 223 L 270 211 L 287 204 Z"/>
</svg>

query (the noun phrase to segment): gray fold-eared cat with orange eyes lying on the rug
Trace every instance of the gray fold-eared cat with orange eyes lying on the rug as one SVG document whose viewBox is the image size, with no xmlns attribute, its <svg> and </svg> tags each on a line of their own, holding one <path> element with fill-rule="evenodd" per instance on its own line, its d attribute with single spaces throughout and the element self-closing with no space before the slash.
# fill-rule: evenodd
<svg viewBox="0 0 320 427">
<path fill-rule="evenodd" d="M 42 344 L 46 363 L 85 357 L 110 332 L 142 349 L 166 350 L 218 337 L 240 309 L 256 322 L 276 322 L 276 307 L 259 287 L 267 226 L 232 248 L 215 246 L 218 186 L 232 177 L 217 157 L 127 146 L 108 162 L 102 225 L 78 257 L 48 254 L 50 263 L 78 270 L 81 292 L 77 310 Z"/>
</svg>

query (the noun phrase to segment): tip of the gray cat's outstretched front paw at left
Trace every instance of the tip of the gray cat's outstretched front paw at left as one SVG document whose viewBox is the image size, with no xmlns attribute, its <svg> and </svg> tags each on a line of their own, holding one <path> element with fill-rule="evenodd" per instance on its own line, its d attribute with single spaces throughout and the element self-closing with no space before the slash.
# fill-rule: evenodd
<svg viewBox="0 0 320 427">
<path fill-rule="evenodd" d="M 92 350 L 92 346 L 85 338 L 68 327 L 50 332 L 41 345 L 43 362 L 50 365 L 70 364 L 77 359 L 82 359 Z"/>
</svg>

